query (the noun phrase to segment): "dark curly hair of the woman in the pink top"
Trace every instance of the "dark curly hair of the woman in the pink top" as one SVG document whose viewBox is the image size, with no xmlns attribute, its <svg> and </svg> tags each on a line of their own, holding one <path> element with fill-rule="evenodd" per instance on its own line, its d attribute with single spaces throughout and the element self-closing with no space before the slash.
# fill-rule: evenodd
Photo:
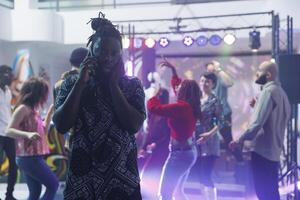
<svg viewBox="0 0 300 200">
<path fill-rule="evenodd" d="M 40 77 L 32 77 L 25 81 L 21 88 L 16 108 L 25 104 L 31 108 L 42 105 L 47 101 L 49 85 L 47 81 Z"/>
</svg>

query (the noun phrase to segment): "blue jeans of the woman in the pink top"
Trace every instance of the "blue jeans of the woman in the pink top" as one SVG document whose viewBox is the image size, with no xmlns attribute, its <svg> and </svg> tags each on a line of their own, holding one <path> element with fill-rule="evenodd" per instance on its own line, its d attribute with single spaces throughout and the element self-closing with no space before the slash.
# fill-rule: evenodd
<svg viewBox="0 0 300 200">
<path fill-rule="evenodd" d="M 41 200 L 53 200 L 58 189 L 58 179 L 45 163 L 42 156 L 17 157 L 17 165 L 23 172 L 29 189 L 28 200 L 38 200 L 42 191 L 42 184 L 46 191 Z"/>
</svg>

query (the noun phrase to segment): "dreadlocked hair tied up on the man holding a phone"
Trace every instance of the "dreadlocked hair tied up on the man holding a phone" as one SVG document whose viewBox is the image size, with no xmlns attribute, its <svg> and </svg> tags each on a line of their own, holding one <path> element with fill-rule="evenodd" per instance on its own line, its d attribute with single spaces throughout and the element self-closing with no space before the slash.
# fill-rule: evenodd
<svg viewBox="0 0 300 200">
<path fill-rule="evenodd" d="M 89 44 L 92 46 L 97 38 L 115 38 L 120 42 L 122 48 L 122 36 L 120 31 L 111 21 L 105 18 L 102 12 L 99 12 L 97 18 L 91 18 L 89 22 L 91 22 L 91 27 L 95 33 L 89 37 L 87 46 L 89 46 Z"/>
</svg>

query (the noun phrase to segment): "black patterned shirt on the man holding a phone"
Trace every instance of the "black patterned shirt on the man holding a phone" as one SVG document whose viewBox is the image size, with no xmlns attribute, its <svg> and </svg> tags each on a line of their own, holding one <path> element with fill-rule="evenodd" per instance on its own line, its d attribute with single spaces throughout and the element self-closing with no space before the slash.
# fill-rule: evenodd
<svg viewBox="0 0 300 200">
<path fill-rule="evenodd" d="M 57 94 L 61 106 L 78 77 L 66 79 Z M 144 91 L 137 78 L 119 82 L 125 98 L 146 116 Z M 75 122 L 64 199 L 140 200 L 137 147 L 134 134 L 122 129 L 109 95 L 96 86 L 82 94 Z"/>
</svg>

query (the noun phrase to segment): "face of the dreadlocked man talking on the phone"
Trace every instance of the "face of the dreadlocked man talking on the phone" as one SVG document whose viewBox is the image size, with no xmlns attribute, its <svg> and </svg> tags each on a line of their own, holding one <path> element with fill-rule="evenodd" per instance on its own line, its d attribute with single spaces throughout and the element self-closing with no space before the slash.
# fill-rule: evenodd
<svg viewBox="0 0 300 200">
<path fill-rule="evenodd" d="M 99 63 L 99 69 L 95 69 L 96 76 L 102 73 L 110 74 L 116 69 L 121 60 L 121 44 L 117 39 L 98 38 L 91 50 Z"/>
</svg>

